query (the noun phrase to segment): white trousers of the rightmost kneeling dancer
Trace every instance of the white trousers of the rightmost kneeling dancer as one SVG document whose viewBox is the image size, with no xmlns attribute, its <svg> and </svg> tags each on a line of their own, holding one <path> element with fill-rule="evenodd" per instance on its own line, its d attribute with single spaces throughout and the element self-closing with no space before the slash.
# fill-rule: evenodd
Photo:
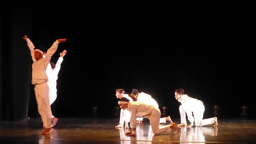
<svg viewBox="0 0 256 144">
<path fill-rule="evenodd" d="M 179 109 L 180 109 L 181 123 L 187 124 L 185 107 L 183 105 L 180 105 Z M 204 125 L 214 123 L 214 118 L 203 119 L 203 115 L 204 115 L 204 105 L 203 104 L 198 105 L 197 109 L 193 111 L 193 115 L 194 115 L 194 120 L 195 120 L 196 126 L 204 126 Z"/>
</svg>

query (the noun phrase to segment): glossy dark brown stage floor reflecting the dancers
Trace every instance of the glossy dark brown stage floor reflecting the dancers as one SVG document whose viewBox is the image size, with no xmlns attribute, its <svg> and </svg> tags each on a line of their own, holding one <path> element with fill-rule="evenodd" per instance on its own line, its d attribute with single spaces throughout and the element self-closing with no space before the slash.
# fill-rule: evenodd
<svg viewBox="0 0 256 144">
<path fill-rule="evenodd" d="M 50 135 L 42 131 L 41 119 L 0 123 L 0 144 L 245 144 L 256 143 L 256 120 L 218 120 L 218 127 L 181 127 L 178 134 L 154 135 L 148 119 L 137 126 L 137 135 L 127 137 L 115 129 L 119 119 L 59 118 Z M 179 123 L 179 119 L 173 119 Z"/>
</svg>

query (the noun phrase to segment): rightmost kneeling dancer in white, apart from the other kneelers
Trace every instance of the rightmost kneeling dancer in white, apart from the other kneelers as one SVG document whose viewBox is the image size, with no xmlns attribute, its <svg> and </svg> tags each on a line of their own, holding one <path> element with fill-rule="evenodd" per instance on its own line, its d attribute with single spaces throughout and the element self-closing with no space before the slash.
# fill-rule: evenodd
<svg viewBox="0 0 256 144">
<path fill-rule="evenodd" d="M 218 125 L 217 117 L 203 119 L 204 105 L 202 101 L 197 100 L 195 98 L 191 98 L 188 95 L 185 95 L 184 89 L 181 89 L 181 88 L 176 89 L 174 93 L 175 93 L 176 100 L 178 100 L 181 103 L 179 108 L 181 124 L 178 124 L 177 126 L 187 126 L 186 114 L 188 116 L 188 120 L 191 123 L 187 127 L 192 127 L 194 125 L 194 119 L 195 119 L 196 126 L 203 126 L 203 125 L 208 125 L 213 123 L 214 123 L 214 126 Z M 194 117 L 192 116 L 192 112 Z"/>
</svg>

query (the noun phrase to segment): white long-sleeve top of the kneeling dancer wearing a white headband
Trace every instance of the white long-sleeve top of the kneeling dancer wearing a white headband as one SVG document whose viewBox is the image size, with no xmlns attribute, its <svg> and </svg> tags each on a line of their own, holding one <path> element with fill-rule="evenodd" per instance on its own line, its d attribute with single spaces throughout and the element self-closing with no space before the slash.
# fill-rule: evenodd
<svg viewBox="0 0 256 144">
<path fill-rule="evenodd" d="M 136 128 L 136 117 L 149 118 L 155 106 L 143 102 L 129 102 L 127 110 L 131 113 L 130 126 Z"/>
</svg>

